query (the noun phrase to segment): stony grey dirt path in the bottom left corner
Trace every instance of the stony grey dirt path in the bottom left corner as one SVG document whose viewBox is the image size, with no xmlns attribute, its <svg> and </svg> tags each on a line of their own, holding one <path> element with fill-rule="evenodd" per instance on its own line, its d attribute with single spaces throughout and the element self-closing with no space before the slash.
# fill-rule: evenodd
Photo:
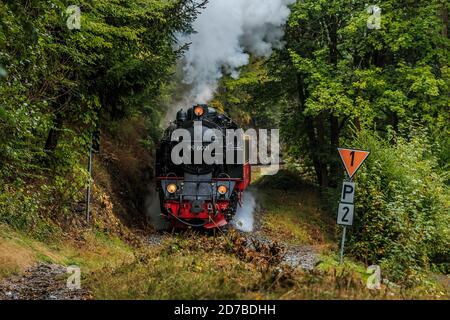
<svg viewBox="0 0 450 320">
<path fill-rule="evenodd" d="M 67 269 L 56 264 L 39 264 L 21 276 L 0 282 L 0 300 L 87 300 L 83 289 L 67 287 Z"/>
</svg>

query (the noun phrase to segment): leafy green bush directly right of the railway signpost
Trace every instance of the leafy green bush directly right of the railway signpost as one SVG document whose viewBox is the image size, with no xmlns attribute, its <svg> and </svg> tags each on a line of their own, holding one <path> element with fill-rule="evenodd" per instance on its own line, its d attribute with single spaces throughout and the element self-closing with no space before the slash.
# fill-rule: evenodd
<svg viewBox="0 0 450 320">
<path fill-rule="evenodd" d="M 392 145 L 363 131 L 358 140 L 372 154 L 356 178 L 352 253 L 406 282 L 434 262 L 448 266 L 449 188 L 426 135 Z"/>
</svg>

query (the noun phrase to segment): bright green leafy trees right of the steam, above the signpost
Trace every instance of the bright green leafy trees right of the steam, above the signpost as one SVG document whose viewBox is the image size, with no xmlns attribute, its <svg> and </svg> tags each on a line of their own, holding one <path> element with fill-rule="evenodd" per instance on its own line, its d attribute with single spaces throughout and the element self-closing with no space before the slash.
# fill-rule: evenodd
<svg viewBox="0 0 450 320">
<path fill-rule="evenodd" d="M 342 175 L 336 147 L 351 137 L 348 128 L 393 131 L 395 138 L 417 124 L 441 128 L 448 119 L 449 41 L 437 14 L 448 4 L 378 5 L 379 30 L 367 28 L 361 1 L 299 1 L 292 8 L 279 56 L 292 66 L 285 83 L 296 87 L 297 104 L 282 123 L 321 186 L 336 186 Z"/>
</svg>

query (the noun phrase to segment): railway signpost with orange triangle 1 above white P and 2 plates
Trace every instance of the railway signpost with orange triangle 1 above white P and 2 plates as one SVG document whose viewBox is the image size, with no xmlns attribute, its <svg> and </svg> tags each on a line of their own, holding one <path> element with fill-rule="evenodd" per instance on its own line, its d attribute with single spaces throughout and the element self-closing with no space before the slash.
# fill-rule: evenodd
<svg viewBox="0 0 450 320">
<path fill-rule="evenodd" d="M 364 161 L 366 161 L 370 151 L 338 148 L 338 152 L 349 177 L 349 181 L 344 181 L 342 184 L 341 201 L 339 202 L 337 214 L 337 224 L 343 226 L 340 252 L 340 263 L 342 264 L 344 261 L 344 246 L 347 226 L 353 225 L 353 218 L 355 216 L 354 203 L 356 185 L 353 182 L 353 177 Z"/>
</svg>

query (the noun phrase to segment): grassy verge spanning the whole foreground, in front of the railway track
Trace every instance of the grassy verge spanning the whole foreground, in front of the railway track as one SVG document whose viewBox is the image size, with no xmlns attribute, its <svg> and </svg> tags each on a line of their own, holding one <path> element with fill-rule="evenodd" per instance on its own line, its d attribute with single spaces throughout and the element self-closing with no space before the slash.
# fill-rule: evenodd
<svg viewBox="0 0 450 320">
<path fill-rule="evenodd" d="M 337 265 L 322 253 L 314 271 L 280 267 L 265 253 L 246 251 L 239 237 L 168 235 L 159 246 L 131 248 L 89 232 L 79 243 L 45 244 L 1 227 L 0 274 L 19 274 L 36 262 L 78 265 L 94 299 L 439 299 L 435 284 L 368 290 L 365 266 Z M 7 254 L 5 254 L 7 252 Z"/>
</svg>

